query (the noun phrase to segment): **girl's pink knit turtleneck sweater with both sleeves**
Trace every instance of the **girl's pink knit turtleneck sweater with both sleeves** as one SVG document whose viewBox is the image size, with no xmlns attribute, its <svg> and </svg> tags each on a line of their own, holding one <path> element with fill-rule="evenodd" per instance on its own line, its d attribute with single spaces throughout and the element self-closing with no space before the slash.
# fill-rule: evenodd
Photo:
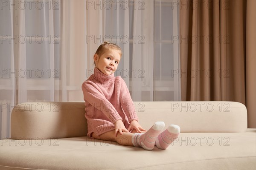
<svg viewBox="0 0 256 170">
<path fill-rule="evenodd" d="M 93 132 L 99 136 L 114 130 L 117 120 L 122 120 L 126 129 L 132 120 L 138 120 L 129 90 L 120 76 L 107 76 L 94 68 L 94 74 L 82 84 L 82 90 L 88 137 Z"/>
</svg>

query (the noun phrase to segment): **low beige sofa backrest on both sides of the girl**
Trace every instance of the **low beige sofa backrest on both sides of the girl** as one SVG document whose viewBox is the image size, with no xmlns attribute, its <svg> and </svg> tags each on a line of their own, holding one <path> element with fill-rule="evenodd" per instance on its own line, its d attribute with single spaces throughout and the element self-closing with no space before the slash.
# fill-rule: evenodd
<svg viewBox="0 0 256 170">
<path fill-rule="evenodd" d="M 134 102 L 140 125 L 163 121 L 181 133 L 244 132 L 247 110 L 239 102 Z M 12 110 L 11 139 L 86 136 L 84 102 L 27 102 Z"/>
</svg>

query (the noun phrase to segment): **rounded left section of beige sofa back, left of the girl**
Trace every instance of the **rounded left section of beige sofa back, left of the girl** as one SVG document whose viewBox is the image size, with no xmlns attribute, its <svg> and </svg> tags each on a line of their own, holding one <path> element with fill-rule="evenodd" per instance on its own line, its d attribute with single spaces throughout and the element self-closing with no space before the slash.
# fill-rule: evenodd
<svg viewBox="0 0 256 170">
<path fill-rule="evenodd" d="M 84 102 L 26 102 L 15 106 L 11 139 L 87 136 Z"/>
</svg>

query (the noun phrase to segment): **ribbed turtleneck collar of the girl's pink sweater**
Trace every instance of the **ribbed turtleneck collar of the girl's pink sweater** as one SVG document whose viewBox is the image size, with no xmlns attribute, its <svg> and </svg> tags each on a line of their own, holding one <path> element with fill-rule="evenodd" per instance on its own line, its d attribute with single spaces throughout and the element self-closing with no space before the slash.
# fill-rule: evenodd
<svg viewBox="0 0 256 170">
<path fill-rule="evenodd" d="M 97 80 L 97 82 L 99 82 L 102 85 L 109 85 L 115 80 L 114 74 L 108 76 L 99 71 L 99 69 L 96 67 L 94 68 L 94 77 Z"/>
</svg>

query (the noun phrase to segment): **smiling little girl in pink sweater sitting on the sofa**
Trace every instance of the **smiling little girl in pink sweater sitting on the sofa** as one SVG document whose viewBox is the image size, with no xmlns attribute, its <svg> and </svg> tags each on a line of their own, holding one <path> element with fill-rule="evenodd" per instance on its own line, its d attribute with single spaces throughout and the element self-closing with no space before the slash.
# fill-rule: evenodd
<svg viewBox="0 0 256 170">
<path fill-rule="evenodd" d="M 95 68 L 83 84 L 85 117 L 90 138 L 115 141 L 126 146 L 152 150 L 154 145 L 166 149 L 180 133 L 180 127 L 155 122 L 146 131 L 138 122 L 129 90 L 114 72 L 122 57 L 118 45 L 104 42 L 93 56 Z"/>
</svg>

